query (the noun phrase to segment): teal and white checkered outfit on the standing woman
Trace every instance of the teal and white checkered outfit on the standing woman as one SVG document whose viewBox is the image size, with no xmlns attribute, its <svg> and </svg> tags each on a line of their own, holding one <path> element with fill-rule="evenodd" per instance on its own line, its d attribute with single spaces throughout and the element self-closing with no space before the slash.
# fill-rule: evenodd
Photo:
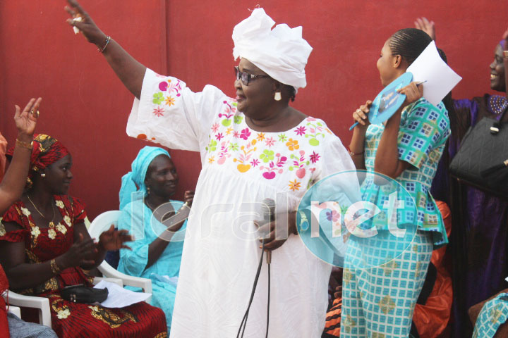
<svg viewBox="0 0 508 338">
<path fill-rule="evenodd" d="M 365 167 L 368 172 L 374 171 L 375 156 L 384 130 L 384 125 L 368 127 L 365 135 Z M 436 107 L 422 98 L 402 111 L 399 160 L 411 166 L 396 180 L 413 198 L 416 214 L 401 213 L 397 222 L 416 225 L 416 233 L 407 249 L 385 264 L 354 268 L 346 263 L 341 338 L 409 336 L 414 307 L 432 251 L 448 242 L 442 216 L 429 190 L 449 134 L 448 113 L 442 103 Z M 363 190 L 363 199 L 378 198 L 380 188 L 376 189 Z M 386 233 L 380 232 L 380 235 Z M 369 243 L 382 244 L 383 241 L 378 237 L 363 244 L 351 242 L 350 256 L 346 257 L 346 261 L 354 261 L 359 256 L 375 259 L 379 254 L 377 251 L 383 248 L 374 248 Z"/>
</svg>

